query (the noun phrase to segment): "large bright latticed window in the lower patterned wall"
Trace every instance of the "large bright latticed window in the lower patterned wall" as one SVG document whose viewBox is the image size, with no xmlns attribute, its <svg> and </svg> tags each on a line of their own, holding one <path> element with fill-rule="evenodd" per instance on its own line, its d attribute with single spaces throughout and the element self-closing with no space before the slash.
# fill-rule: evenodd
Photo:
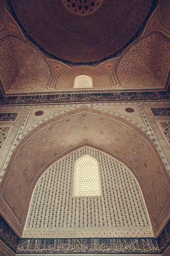
<svg viewBox="0 0 170 256">
<path fill-rule="evenodd" d="M 99 162 L 94 157 L 85 155 L 75 162 L 73 196 L 102 196 Z"/>
</svg>

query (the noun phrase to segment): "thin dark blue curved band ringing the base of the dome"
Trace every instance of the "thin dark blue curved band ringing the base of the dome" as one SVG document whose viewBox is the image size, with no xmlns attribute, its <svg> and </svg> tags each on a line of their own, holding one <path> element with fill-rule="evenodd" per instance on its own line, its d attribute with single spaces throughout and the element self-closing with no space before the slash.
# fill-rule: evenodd
<svg viewBox="0 0 170 256">
<path fill-rule="evenodd" d="M 11 12 L 12 17 L 14 18 L 14 20 L 17 22 L 18 26 L 20 27 L 21 31 L 23 32 L 23 34 L 28 38 L 29 41 L 31 41 L 32 44 L 34 44 L 36 47 L 38 47 L 48 58 L 57 60 L 57 61 L 61 61 L 67 65 L 70 65 L 71 67 L 73 66 L 82 66 L 82 65 L 93 65 L 93 66 L 97 66 L 100 63 L 107 61 L 108 59 L 111 58 L 115 58 L 116 56 L 118 56 L 121 52 L 123 52 L 127 46 L 129 46 L 133 41 L 135 41 L 138 37 L 140 37 L 142 35 L 142 32 L 144 31 L 144 28 L 147 24 L 147 21 L 149 20 L 149 18 L 151 17 L 151 15 L 153 14 L 153 12 L 155 11 L 156 7 L 159 4 L 159 0 L 153 0 L 152 5 L 150 7 L 150 10 L 147 14 L 147 17 L 145 18 L 144 22 L 142 23 L 142 25 L 140 26 L 140 28 L 138 29 L 138 31 L 135 33 L 135 35 L 133 35 L 133 37 L 130 39 L 130 41 L 127 42 L 127 44 L 125 44 L 121 49 L 119 49 L 118 51 L 114 52 L 113 54 L 111 54 L 110 56 L 106 57 L 106 58 L 102 58 L 98 61 L 90 61 L 90 62 L 73 62 L 73 61 L 67 61 L 64 60 L 62 58 L 58 58 L 57 56 L 49 53 L 48 51 L 46 51 L 45 49 L 43 49 L 39 44 L 36 43 L 36 41 L 34 41 L 33 38 L 31 38 L 31 36 L 26 32 L 26 30 L 24 29 L 23 25 L 20 23 L 20 20 L 18 19 L 14 8 L 12 6 L 11 0 L 6 0 L 7 2 L 7 6 L 8 9 Z"/>
</svg>

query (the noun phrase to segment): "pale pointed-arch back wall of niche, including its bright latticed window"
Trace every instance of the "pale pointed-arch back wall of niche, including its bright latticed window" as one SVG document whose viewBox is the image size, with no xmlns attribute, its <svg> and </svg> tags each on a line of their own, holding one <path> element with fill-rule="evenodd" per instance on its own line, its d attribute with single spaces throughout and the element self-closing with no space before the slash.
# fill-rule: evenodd
<svg viewBox="0 0 170 256">
<path fill-rule="evenodd" d="M 49 230 L 50 237 L 58 237 L 65 230 L 67 237 L 80 231 L 87 236 L 96 228 L 95 237 L 105 237 L 108 230 L 111 237 L 119 230 L 131 231 L 131 236 L 136 229 L 143 230 L 143 236 L 148 230 L 152 232 L 132 172 L 108 154 L 85 146 L 42 174 L 34 188 L 23 234 L 28 238 L 35 233 L 40 238 Z"/>
</svg>

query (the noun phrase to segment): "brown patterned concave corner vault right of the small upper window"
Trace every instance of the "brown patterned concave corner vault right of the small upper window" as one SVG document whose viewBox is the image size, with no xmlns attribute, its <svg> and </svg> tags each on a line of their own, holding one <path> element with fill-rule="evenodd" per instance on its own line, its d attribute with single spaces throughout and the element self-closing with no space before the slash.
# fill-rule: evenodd
<svg viewBox="0 0 170 256">
<path fill-rule="evenodd" d="M 170 63 L 169 43 L 161 32 L 152 32 L 133 43 L 116 64 L 119 84 L 123 88 L 164 87 Z"/>
</svg>

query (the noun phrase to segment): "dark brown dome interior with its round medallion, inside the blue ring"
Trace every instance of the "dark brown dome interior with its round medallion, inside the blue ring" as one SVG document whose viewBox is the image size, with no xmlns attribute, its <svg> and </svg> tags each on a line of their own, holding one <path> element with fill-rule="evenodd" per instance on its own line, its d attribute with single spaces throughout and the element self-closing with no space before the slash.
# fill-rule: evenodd
<svg viewBox="0 0 170 256">
<path fill-rule="evenodd" d="M 43 49 L 73 62 L 97 61 L 122 48 L 152 0 L 11 0 L 20 23 Z"/>
</svg>

